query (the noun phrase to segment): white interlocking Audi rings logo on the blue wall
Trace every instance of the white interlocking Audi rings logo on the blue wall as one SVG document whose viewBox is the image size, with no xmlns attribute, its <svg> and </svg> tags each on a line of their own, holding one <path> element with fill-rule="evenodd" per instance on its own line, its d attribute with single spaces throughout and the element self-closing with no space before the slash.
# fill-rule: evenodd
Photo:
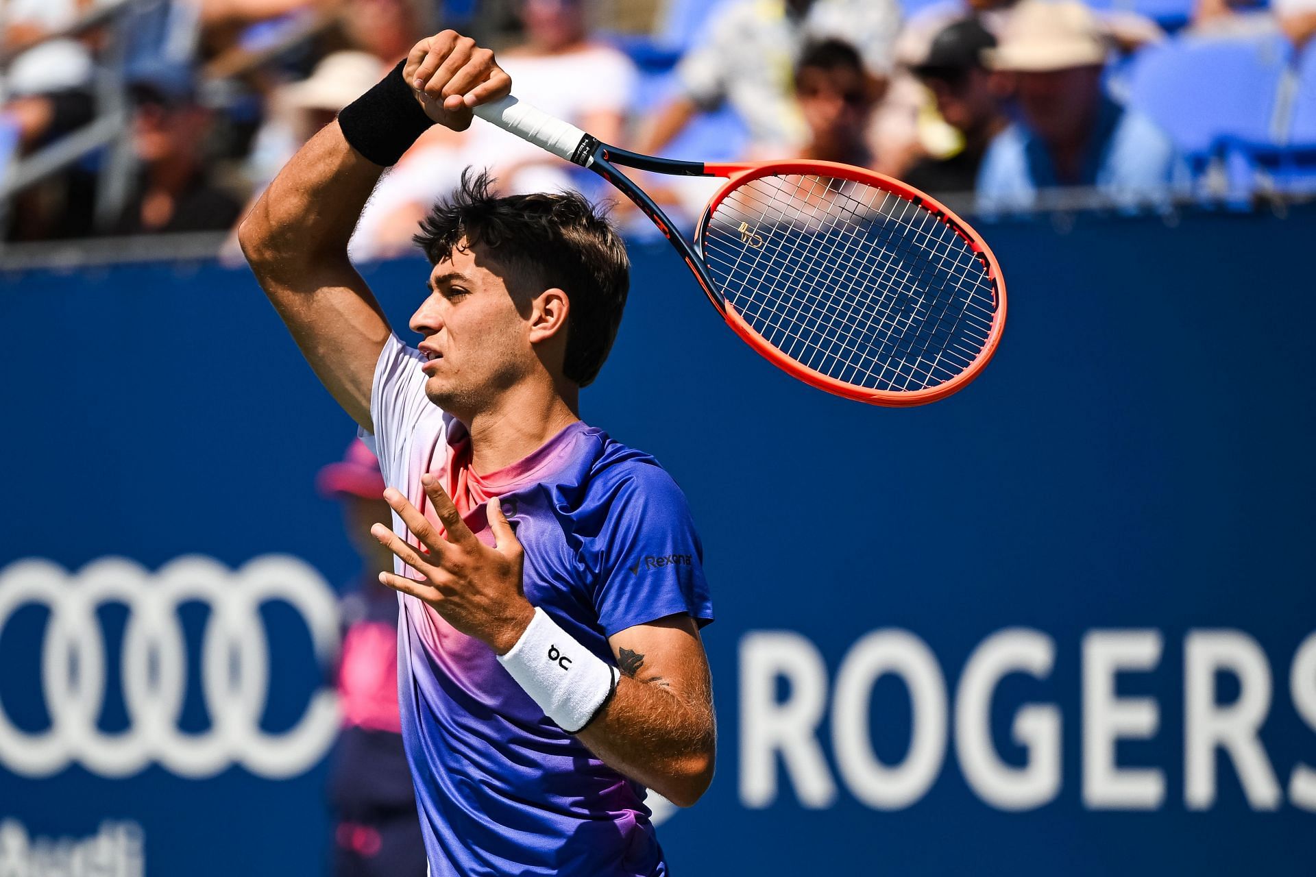
<svg viewBox="0 0 1316 877">
<path fill-rule="evenodd" d="M 178 776 L 211 777 L 237 764 L 283 778 L 315 765 L 332 746 L 338 709 L 320 688 L 287 731 L 261 728 L 270 680 L 261 605 L 283 601 L 300 613 L 317 657 L 332 659 L 337 604 L 320 573 L 296 557 L 267 555 L 238 571 L 201 556 L 179 557 L 151 573 L 120 557 L 78 573 L 46 560 L 20 560 L 0 573 L 0 635 L 29 605 L 50 610 L 41 651 L 41 682 L 50 726 L 29 732 L 0 703 L 0 765 L 47 777 L 72 763 L 105 777 L 132 776 L 151 763 Z M 209 606 L 201 636 L 200 678 L 211 727 L 179 730 L 187 689 L 187 644 L 178 607 Z M 122 640 L 122 696 L 128 727 L 97 727 L 105 701 L 105 640 L 99 606 L 128 606 Z"/>
</svg>

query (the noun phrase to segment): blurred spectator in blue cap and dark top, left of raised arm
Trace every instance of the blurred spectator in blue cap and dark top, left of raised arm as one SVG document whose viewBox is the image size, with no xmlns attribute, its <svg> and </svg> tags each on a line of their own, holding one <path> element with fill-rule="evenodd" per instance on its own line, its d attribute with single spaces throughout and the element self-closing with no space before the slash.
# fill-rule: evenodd
<svg viewBox="0 0 1316 877">
<path fill-rule="evenodd" d="M 137 185 L 111 234 L 218 231 L 238 220 L 241 201 L 213 185 L 205 167 L 211 110 L 192 93 L 187 71 L 158 71 L 132 87 Z"/>
</svg>

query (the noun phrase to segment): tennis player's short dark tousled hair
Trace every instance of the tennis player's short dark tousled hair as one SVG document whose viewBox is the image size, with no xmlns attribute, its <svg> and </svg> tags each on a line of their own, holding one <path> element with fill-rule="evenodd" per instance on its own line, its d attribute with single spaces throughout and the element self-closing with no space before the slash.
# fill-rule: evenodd
<svg viewBox="0 0 1316 877">
<path fill-rule="evenodd" d="M 563 373 L 580 387 L 599 375 L 621 325 L 630 259 L 608 220 L 575 192 L 495 197 L 487 171 L 462 172 L 462 184 L 430 209 L 416 243 L 430 264 L 458 247 L 480 245 L 515 277 L 559 288 L 571 301 Z"/>
</svg>

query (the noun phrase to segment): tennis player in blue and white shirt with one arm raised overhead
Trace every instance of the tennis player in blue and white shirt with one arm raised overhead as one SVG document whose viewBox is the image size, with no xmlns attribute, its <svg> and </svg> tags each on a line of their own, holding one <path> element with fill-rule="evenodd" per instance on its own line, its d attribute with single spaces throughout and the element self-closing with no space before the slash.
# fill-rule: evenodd
<svg viewBox="0 0 1316 877">
<path fill-rule="evenodd" d="M 347 260 L 384 168 L 511 85 L 471 39 L 422 39 L 288 162 L 240 241 L 390 485 L 393 530 L 374 534 L 397 557 L 380 580 L 401 593 L 432 873 L 666 874 L 645 786 L 691 805 L 712 778 L 712 607 L 679 488 L 579 418 L 625 304 L 621 241 L 576 195 L 466 176 L 417 235 L 417 348 Z"/>
</svg>

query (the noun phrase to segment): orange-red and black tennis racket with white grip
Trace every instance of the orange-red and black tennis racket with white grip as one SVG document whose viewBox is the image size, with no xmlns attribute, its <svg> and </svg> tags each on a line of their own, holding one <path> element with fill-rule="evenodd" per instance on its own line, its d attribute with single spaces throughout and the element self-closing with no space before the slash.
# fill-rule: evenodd
<svg viewBox="0 0 1316 877">
<path fill-rule="evenodd" d="M 832 162 L 641 155 L 512 96 L 474 112 L 620 189 L 726 325 L 807 384 L 873 405 L 923 405 L 963 388 L 996 350 L 1005 325 L 996 258 L 959 217 L 899 180 Z M 687 241 L 617 166 L 726 183 Z"/>
</svg>

